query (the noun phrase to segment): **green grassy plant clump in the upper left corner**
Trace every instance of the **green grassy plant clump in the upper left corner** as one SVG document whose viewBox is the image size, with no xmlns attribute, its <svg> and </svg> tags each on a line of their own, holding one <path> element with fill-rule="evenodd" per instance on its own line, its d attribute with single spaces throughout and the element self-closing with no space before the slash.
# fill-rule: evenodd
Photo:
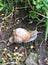
<svg viewBox="0 0 48 65">
<path fill-rule="evenodd" d="M 3 12 L 7 16 L 18 2 L 20 0 L 0 0 L 0 12 Z"/>
</svg>

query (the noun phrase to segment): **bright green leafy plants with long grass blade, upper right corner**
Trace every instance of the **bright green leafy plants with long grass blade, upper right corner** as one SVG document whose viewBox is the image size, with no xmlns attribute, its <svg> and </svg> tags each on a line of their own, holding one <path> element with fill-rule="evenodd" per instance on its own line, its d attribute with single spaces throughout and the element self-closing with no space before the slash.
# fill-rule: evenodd
<svg viewBox="0 0 48 65">
<path fill-rule="evenodd" d="M 29 13 L 29 17 L 32 19 L 39 19 L 39 15 L 41 19 L 39 19 L 39 23 L 44 22 L 46 25 L 45 31 L 45 41 L 48 37 L 48 0 L 28 0 L 28 3 L 31 7 L 31 12 Z"/>
</svg>

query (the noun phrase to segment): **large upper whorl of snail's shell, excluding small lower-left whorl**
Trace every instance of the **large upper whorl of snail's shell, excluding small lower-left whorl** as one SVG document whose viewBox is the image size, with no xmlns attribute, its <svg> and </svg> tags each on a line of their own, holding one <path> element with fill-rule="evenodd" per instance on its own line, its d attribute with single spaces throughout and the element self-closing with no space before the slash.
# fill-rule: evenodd
<svg viewBox="0 0 48 65">
<path fill-rule="evenodd" d="M 17 28 L 15 30 L 13 30 L 13 36 L 14 36 L 14 38 L 15 38 L 15 36 L 18 36 L 23 41 L 28 41 L 30 39 L 30 32 L 24 28 Z"/>
</svg>

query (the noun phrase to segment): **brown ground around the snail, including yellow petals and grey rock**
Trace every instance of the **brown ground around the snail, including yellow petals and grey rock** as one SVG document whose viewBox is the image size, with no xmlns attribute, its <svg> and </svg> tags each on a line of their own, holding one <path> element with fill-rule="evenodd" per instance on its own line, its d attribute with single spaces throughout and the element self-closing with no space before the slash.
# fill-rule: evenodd
<svg viewBox="0 0 48 65">
<path fill-rule="evenodd" d="M 21 13 L 22 12 L 22 13 Z M 25 13 L 25 14 L 24 14 Z M 38 20 L 32 20 L 33 23 L 29 24 L 28 17 L 24 17 L 28 14 L 27 11 L 19 10 L 18 15 L 16 14 L 13 18 L 6 19 L 3 24 L 2 30 L 0 31 L 0 58 L 5 57 L 6 64 L 18 64 L 18 65 L 47 65 L 48 64 L 48 41 L 44 41 L 45 27 L 37 27 Z M 16 20 L 17 19 L 17 20 Z M 6 29 L 8 27 L 8 29 Z M 37 27 L 38 31 L 41 31 L 41 34 L 38 34 L 38 37 L 35 41 L 22 44 L 11 44 L 9 38 L 12 36 L 13 29 L 18 27 L 25 28 L 27 30 L 35 30 Z M 4 40 L 4 41 L 2 41 Z M 10 44 L 7 46 L 7 44 Z M 9 55 L 8 55 L 9 53 Z M 14 53 L 14 55 L 13 55 Z M 16 54 L 15 54 L 16 53 Z M 23 53 L 23 55 L 22 55 Z M 11 56 L 10 56 L 11 54 Z M 6 56 L 7 55 L 7 56 Z M 15 59 L 13 59 L 16 57 Z M 17 59 L 18 57 L 18 59 Z M 21 58 L 20 58 L 21 57 Z M 11 59 L 10 59 L 11 58 Z M 34 58 L 36 58 L 34 60 Z M 13 62 L 14 63 L 11 63 Z M 8 63 L 9 62 L 9 63 Z M 0 61 L 0 63 L 2 63 Z M 2 63 L 3 64 L 3 63 Z M 5 65 L 5 64 L 4 64 Z"/>
</svg>

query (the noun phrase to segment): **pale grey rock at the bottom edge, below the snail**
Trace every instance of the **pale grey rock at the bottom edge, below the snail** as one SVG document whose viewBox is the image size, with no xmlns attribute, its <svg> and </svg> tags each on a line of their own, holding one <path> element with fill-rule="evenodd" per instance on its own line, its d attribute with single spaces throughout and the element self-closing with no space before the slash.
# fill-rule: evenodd
<svg viewBox="0 0 48 65">
<path fill-rule="evenodd" d="M 38 65 L 37 64 L 37 54 L 30 53 L 29 57 L 26 59 L 26 65 Z"/>
</svg>

